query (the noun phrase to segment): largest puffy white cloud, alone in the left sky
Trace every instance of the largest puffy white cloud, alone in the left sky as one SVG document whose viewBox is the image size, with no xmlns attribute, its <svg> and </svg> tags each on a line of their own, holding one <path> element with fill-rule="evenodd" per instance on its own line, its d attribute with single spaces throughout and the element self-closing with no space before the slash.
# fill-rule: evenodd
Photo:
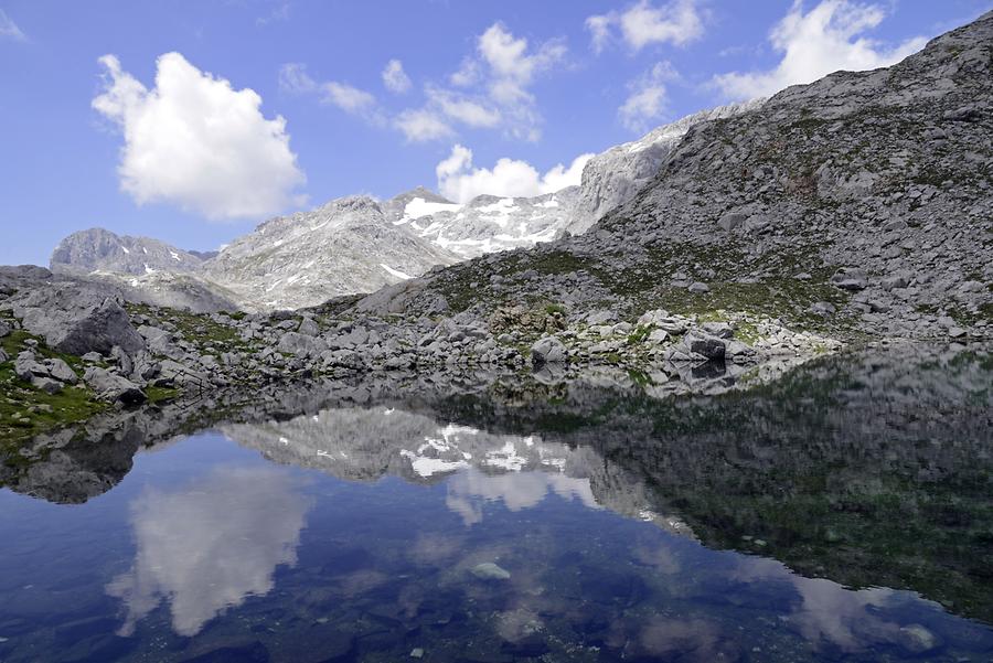
<svg viewBox="0 0 993 663">
<path fill-rule="evenodd" d="M 99 62 L 105 90 L 93 107 L 124 132 L 120 184 L 138 204 L 166 202 L 218 220 L 301 202 L 292 192 L 306 179 L 286 120 L 266 119 L 253 89 L 235 90 L 179 53 L 159 57 L 151 90 L 116 56 Z"/>
</svg>

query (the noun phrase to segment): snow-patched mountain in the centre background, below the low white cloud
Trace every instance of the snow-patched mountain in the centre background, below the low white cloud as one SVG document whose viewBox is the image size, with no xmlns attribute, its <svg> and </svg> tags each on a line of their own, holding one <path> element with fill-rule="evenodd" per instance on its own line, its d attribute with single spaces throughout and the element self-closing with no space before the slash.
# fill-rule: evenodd
<svg viewBox="0 0 993 663">
<path fill-rule="evenodd" d="M 474 258 L 554 239 L 569 223 L 577 192 L 570 186 L 535 197 L 479 195 L 466 205 L 413 197 L 395 223 L 463 259 Z"/>
</svg>

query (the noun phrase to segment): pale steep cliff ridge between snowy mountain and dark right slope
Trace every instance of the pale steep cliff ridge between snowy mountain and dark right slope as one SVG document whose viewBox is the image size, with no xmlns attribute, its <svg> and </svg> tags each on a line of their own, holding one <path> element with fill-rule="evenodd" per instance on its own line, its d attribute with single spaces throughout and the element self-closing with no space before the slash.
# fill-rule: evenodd
<svg viewBox="0 0 993 663">
<path fill-rule="evenodd" d="M 701 110 L 597 154 L 583 169 L 579 191 L 564 228 L 581 235 L 605 214 L 634 197 L 692 127 L 755 110 L 764 103 L 765 99 L 755 99 Z"/>
</svg>

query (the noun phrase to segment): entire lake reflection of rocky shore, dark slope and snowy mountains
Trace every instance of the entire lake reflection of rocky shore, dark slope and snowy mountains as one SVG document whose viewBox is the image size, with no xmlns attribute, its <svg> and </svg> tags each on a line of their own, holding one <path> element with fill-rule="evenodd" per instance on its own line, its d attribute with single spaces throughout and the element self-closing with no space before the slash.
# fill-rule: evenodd
<svg viewBox="0 0 993 663">
<path fill-rule="evenodd" d="M 36 460 L 6 467 L 3 481 L 81 501 L 119 481 L 140 446 L 210 424 L 192 413 L 228 409 L 222 431 L 276 462 L 350 481 L 468 472 L 452 483 L 467 522 L 479 517 L 474 496 L 517 504 L 562 492 L 989 621 L 991 378 L 989 353 L 904 346 L 807 364 L 748 392 L 662 400 L 519 378 L 325 383 L 242 405 L 118 414 L 106 432 L 39 440 Z"/>
</svg>

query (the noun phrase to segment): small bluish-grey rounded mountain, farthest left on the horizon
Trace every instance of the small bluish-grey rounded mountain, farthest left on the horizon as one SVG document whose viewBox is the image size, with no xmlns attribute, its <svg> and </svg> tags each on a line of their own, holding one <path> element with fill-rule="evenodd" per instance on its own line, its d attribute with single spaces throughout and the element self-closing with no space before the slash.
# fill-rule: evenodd
<svg viewBox="0 0 993 663">
<path fill-rule="evenodd" d="M 73 233 L 52 253 L 53 271 L 64 274 L 145 275 L 156 271 L 189 274 L 200 269 L 203 258 L 149 237 L 117 235 L 104 228 Z"/>
</svg>

